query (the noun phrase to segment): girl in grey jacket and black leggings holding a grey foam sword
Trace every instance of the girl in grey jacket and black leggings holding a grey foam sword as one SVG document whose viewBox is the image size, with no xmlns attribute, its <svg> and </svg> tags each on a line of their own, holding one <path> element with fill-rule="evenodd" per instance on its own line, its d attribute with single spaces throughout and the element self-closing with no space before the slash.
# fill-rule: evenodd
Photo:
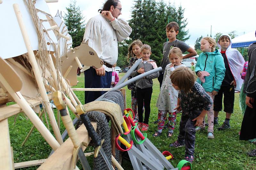
<svg viewBox="0 0 256 170">
<path fill-rule="evenodd" d="M 142 62 L 137 67 L 137 70 L 132 72 L 132 77 L 135 77 L 139 74 L 145 73 L 147 71 L 153 70 L 157 68 L 156 62 L 154 60 L 150 60 L 149 56 L 151 55 L 151 47 L 147 44 L 144 44 L 141 47 L 141 56 Z M 159 72 L 150 74 L 142 79 L 136 81 L 136 95 L 137 95 L 137 102 L 138 102 L 138 127 L 141 131 L 148 130 L 148 119 L 150 115 L 150 102 L 152 96 L 152 86 L 153 81 L 152 79 L 157 78 L 159 76 Z M 143 121 L 143 103 L 145 107 L 145 118 Z"/>
</svg>

